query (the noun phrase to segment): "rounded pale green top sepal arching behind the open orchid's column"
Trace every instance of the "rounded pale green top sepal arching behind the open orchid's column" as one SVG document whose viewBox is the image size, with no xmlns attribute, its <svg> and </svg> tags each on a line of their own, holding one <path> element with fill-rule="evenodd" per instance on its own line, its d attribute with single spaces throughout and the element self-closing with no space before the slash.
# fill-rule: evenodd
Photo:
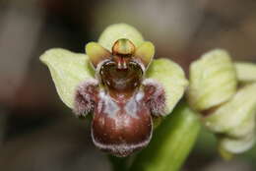
<svg viewBox="0 0 256 171">
<path fill-rule="evenodd" d="M 115 24 L 103 30 L 98 43 L 111 52 L 114 42 L 120 38 L 129 39 L 135 47 L 139 47 L 144 42 L 142 34 L 136 28 L 127 24 Z"/>
</svg>

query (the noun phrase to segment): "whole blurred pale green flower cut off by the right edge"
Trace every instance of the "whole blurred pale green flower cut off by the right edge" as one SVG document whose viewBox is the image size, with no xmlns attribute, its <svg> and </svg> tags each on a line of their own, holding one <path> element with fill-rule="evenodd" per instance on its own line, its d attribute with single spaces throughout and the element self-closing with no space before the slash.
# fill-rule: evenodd
<svg viewBox="0 0 256 171">
<path fill-rule="evenodd" d="M 241 82 L 253 81 L 247 76 L 248 72 L 254 76 L 253 70 L 252 64 L 234 65 L 224 50 L 213 50 L 191 65 L 190 105 L 217 134 L 224 157 L 243 152 L 255 142 L 256 84 L 237 88 Z"/>
</svg>

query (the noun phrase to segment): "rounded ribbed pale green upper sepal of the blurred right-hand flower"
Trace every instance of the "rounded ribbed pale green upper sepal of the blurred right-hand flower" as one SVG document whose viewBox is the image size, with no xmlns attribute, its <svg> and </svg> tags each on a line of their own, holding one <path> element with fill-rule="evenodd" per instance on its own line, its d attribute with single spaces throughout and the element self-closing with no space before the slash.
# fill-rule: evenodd
<svg viewBox="0 0 256 171">
<path fill-rule="evenodd" d="M 236 91 L 236 73 L 228 53 L 210 51 L 190 66 L 188 99 L 198 111 L 222 104 Z"/>
</svg>

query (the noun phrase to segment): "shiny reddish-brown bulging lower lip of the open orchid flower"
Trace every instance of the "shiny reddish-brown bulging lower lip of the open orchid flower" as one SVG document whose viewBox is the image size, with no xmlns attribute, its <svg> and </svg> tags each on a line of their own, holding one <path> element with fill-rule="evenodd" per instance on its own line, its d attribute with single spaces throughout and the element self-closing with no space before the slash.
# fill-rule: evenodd
<svg viewBox="0 0 256 171">
<path fill-rule="evenodd" d="M 104 101 L 101 108 L 96 107 L 92 125 L 96 146 L 126 156 L 150 142 L 153 128 L 150 111 L 144 102 L 135 103 L 129 108 L 128 102 L 116 102 L 116 108 L 108 110 L 109 104 Z"/>
</svg>

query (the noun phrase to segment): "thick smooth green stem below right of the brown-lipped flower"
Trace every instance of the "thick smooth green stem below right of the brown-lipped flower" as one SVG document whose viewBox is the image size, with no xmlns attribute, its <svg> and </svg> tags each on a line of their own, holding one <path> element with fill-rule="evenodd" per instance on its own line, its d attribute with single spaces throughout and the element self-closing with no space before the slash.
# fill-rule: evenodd
<svg viewBox="0 0 256 171">
<path fill-rule="evenodd" d="M 180 103 L 155 130 L 150 145 L 142 150 L 131 171 L 177 171 L 182 166 L 200 131 L 197 115 Z"/>
</svg>

